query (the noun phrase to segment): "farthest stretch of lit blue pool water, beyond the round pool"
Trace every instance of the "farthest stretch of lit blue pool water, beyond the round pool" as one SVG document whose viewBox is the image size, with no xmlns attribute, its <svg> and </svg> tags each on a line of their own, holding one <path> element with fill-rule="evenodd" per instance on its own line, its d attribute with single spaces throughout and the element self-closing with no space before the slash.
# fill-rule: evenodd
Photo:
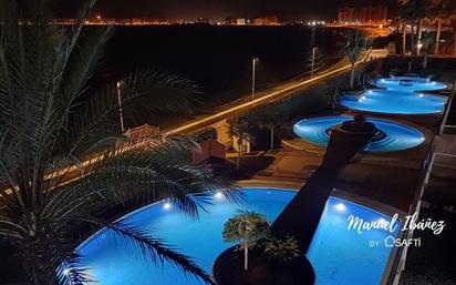
<svg viewBox="0 0 456 285">
<path fill-rule="evenodd" d="M 393 78 L 380 79 L 373 84 L 384 90 L 367 90 L 359 96 L 344 95 L 342 105 L 353 110 L 390 114 L 438 114 L 444 111 L 445 98 L 419 93 L 445 89 L 446 85 L 443 83 L 421 78 Z"/>
</svg>

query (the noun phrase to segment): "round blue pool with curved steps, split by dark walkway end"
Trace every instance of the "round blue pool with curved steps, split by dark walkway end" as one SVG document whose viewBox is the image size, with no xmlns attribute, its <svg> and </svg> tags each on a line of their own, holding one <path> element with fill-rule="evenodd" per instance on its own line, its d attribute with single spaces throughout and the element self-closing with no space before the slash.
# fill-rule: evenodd
<svg viewBox="0 0 456 285">
<path fill-rule="evenodd" d="M 352 116 L 323 116 L 302 120 L 294 124 L 294 133 L 313 144 L 327 146 L 330 140 L 330 130 L 352 120 Z M 367 145 L 370 152 L 392 152 L 415 147 L 424 142 L 424 135 L 407 125 L 379 119 L 367 119 L 381 131 Z"/>
</svg>

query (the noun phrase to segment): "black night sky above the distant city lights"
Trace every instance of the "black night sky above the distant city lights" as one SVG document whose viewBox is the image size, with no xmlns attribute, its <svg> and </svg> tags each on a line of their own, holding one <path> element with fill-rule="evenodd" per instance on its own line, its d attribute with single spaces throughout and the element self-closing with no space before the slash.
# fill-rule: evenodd
<svg viewBox="0 0 456 285">
<path fill-rule="evenodd" d="M 60 11 L 76 10 L 83 0 L 62 0 Z M 99 0 L 97 12 L 106 18 L 153 17 L 187 18 L 263 17 L 282 20 L 334 19 L 339 7 L 388 4 L 395 0 Z"/>
</svg>

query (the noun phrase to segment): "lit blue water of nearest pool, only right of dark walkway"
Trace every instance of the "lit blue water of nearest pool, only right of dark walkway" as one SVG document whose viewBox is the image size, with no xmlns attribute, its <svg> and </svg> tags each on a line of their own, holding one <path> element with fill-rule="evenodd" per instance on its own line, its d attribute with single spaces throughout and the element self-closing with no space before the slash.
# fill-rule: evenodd
<svg viewBox="0 0 456 285">
<path fill-rule="evenodd" d="M 396 237 L 401 223 L 392 233 L 384 230 L 348 231 L 350 215 L 364 221 L 390 221 L 367 207 L 331 197 L 313 236 L 308 252 L 315 271 L 315 285 L 377 285 L 381 283 L 392 247 L 385 246 L 385 238 Z M 371 247 L 371 241 L 379 242 Z"/>
</svg>

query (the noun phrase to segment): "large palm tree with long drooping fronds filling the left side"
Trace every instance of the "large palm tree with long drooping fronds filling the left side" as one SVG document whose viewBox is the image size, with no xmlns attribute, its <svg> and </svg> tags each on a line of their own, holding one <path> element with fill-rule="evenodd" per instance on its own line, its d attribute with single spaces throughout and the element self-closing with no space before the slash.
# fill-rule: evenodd
<svg viewBox="0 0 456 285">
<path fill-rule="evenodd" d="M 211 283 L 188 256 L 169 250 L 152 233 L 128 221 L 106 222 L 100 216 L 115 205 L 165 197 L 196 216 L 208 194 L 189 193 L 237 196 L 208 169 L 189 162 L 193 140 L 144 138 L 138 145 L 112 123 L 115 83 L 90 85 L 111 33 L 110 28 L 83 29 L 94 2 L 70 28 L 50 23 L 48 1 L 1 2 L 0 237 L 14 246 L 27 276 L 20 282 L 27 284 L 85 284 L 84 256 L 74 251 L 74 236 L 86 225 L 128 241 L 129 250 L 143 258 L 170 262 Z M 29 23 L 19 24 L 19 14 Z M 190 106 L 188 94 L 196 91 L 187 80 L 155 72 L 134 72 L 123 82 L 125 103 L 147 96 L 153 110 L 185 111 Z M 93 152 L 106 143 L 108 147 Z"/>
</svg>

